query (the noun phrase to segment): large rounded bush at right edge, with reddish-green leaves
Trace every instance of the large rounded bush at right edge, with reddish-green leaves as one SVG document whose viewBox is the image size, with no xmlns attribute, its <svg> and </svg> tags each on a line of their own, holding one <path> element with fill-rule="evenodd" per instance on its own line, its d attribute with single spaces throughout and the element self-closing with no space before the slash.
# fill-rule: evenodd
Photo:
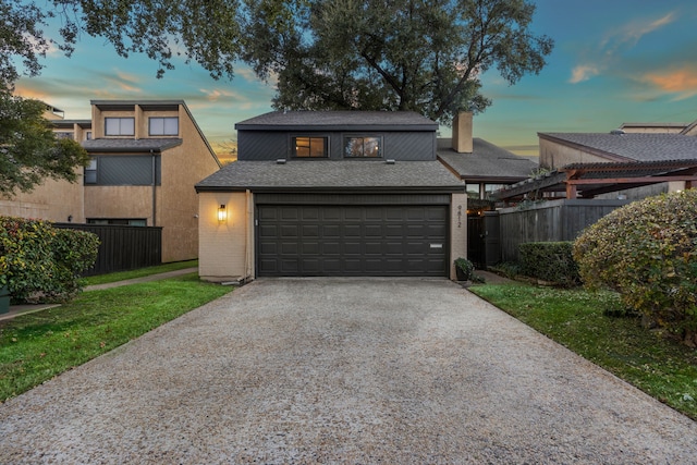
<svg viewBox="0 0 697 465">
<path fill-rule="evenodd" d="M 617 291 L 647 325 L 697 344 L 697 189 L 614 210 L 582 233 L 574 257 L 589 289 Z"/>
</svg>

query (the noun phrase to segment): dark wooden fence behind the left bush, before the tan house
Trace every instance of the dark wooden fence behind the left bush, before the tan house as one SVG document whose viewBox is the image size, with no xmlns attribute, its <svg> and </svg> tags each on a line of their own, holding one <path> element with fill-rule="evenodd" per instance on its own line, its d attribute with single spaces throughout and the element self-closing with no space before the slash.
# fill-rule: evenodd
<svg viewBox="0 0 697 465">
<path fill-rule="evenodd" d="M 87 231 L 99 237 L 97 261 L 83 276 L 134 270 L 162 262 L 162 228 L 75 223 L 53 225 Z"/>
</svg>

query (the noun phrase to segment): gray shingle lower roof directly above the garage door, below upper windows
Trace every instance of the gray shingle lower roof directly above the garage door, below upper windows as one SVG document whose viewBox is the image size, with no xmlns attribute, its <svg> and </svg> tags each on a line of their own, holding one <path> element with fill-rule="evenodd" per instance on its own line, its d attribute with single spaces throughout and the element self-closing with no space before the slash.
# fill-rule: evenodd
<svg viewBox="0 0 697 465">
<path fill-rule="evenodd" d="M 235 161 L 198 184 L 197 191 L 421 191 L 464 192 L 439 161 L 289 160 Z"/>
</svg>

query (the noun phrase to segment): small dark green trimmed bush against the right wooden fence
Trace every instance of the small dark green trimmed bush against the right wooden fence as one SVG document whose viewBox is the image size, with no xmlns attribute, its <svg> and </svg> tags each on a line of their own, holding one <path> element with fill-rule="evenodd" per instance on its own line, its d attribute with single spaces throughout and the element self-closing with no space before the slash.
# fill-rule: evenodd
<svg viewBox="0 0 697 465">
<path fill-rule="evenodd" d="M 523 274 L 563 286 L 580 283 L 572 242 L 528 242 L 518 252 Z"/>
</svg>

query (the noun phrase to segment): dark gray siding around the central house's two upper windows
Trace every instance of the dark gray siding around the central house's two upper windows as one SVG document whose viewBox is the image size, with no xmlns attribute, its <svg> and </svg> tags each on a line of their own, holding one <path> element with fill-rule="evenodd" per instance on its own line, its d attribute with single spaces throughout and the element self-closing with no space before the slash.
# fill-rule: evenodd
<svg viewBox="0 0 697 465">
<path fill-rule="evenodd" d="M 239 131 L 239 160 L 277 160 L 291 157 L 291 139 L 294 136 L 329 137 L 329 157 L 343 158 L 345 136 L 382 136 L 384 159 L 415 161 L 436 160 L 436 132 L 277 132 L 277 131 Z"/>
</svg>

